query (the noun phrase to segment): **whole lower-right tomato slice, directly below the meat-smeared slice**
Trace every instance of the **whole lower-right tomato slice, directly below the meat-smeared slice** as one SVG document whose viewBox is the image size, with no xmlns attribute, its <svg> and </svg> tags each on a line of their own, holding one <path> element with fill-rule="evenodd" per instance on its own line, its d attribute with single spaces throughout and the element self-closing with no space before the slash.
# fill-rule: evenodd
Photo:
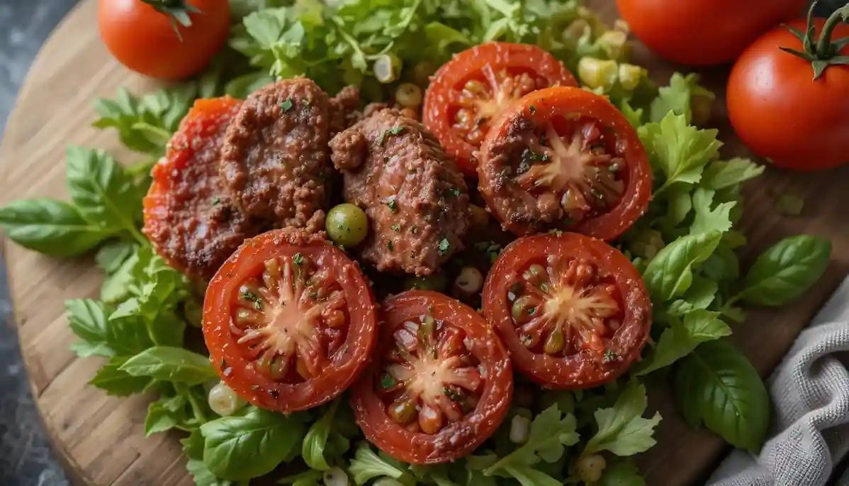
<svg viewBox="0 0 849 486">
<path fill-rule="evenodd" d="M 604 241 L 575 233 L 515 240 L 487 276 L 483 299 L 515 367 L 546 387 L 616 379 L 651 327 L 637 268 Z"/>
</svg>

